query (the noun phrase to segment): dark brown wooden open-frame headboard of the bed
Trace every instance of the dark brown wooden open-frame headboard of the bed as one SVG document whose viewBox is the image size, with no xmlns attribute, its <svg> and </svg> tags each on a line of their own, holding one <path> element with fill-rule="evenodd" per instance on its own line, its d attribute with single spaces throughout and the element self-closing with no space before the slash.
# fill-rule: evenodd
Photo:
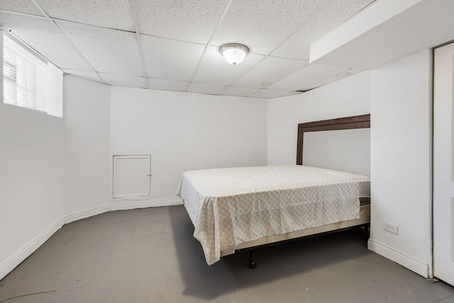
<svg viewBox="0 0 454 303">
<path fill-rule="evenodd" d="M 309 131 L 338 131 L 370 128 L 370 114 L 298 124 L 297 165 L 303 165 L 304 133 Z"/>
</svg>

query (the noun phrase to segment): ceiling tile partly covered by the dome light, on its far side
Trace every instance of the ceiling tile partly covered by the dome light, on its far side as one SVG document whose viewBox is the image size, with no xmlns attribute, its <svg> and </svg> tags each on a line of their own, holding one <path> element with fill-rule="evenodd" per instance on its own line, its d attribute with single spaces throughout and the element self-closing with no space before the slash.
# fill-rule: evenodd
<svg viewBox="0 0 454 303">
<path fill-rule="evenodd" d="M 204 84 L 231 85 L 264 57 L 264 55 L 249 53 L 243 62 L 233 66 L 224 60 L 218 47 L 210 46 L 192 80 Z"/>
</svg>

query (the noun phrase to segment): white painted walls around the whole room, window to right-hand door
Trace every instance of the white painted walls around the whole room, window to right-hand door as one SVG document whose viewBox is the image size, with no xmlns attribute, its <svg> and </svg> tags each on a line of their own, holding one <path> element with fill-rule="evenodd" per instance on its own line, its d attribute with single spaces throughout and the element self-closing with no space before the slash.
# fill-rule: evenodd
<svg viewBox="0 0 454 303">
<path fill-rule="evenodd" d="M 62 220 L 119 203 L 108 201 L 111 155 L 152 155 L 152 200 L 165 201 L 175 199 L 184 170 L 292 164 L 298 123 L 369 113 L 369 247 L 421 275 L 430 271 L 429 50 L 268 101 L 109 88 L 65 77 L 65 104 L 67 117 L 59 119 L 0 102 L 0 277 Z M 383 221 L 397 224 L 399 235 L 384 231 Z"/>
</svg>

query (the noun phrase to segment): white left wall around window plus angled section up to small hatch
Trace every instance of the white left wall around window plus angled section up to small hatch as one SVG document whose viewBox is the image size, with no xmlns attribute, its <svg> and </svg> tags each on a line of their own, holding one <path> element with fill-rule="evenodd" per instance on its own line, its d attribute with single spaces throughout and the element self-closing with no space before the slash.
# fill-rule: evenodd
<svg viewBox="0 0 454 303">
<path fill-rule="evenodd" d="M 63 84 L 63 119 L 0 102 L 0 278 L 63 224 L 109 211 L 110 88 Z"/>
</svg>

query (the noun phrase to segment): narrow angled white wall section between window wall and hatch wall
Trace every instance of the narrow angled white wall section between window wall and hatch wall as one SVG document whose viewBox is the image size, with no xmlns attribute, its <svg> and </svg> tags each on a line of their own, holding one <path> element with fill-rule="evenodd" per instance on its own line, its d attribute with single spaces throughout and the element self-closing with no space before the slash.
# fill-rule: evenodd
<svg viewBox="0 0 454 303">
<path fill-rule="evenodd" d="M 65 215 L 109 204 L 110 87 L 66 76 Z"/>
</svg>

